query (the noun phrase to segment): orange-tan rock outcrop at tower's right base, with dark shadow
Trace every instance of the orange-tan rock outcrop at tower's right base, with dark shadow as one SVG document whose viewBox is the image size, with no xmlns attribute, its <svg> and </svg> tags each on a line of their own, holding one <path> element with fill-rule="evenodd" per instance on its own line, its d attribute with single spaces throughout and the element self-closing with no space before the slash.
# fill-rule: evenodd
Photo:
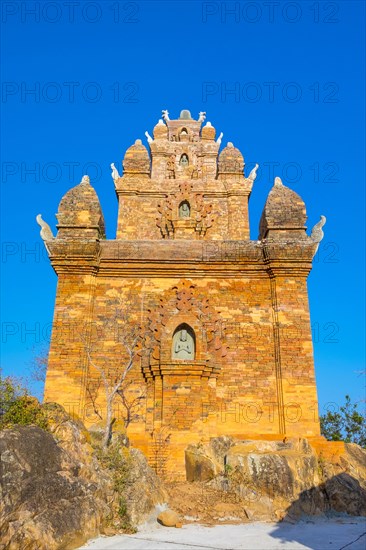
<svg viewBox="0 0 366 550">
<path fill-rule="evenodd" d="M 223 502 L 234 497 L 231 512 L 236 510 L 239 518 L 245 512 L 249 520 L 330 512 L 366 515 L 365 463 L 366 451 L 358 445 L 323 438 L 311 444 L 302 438 L 219 437 L 186 450 L 187 480 L 200 482 L 203 492 L 215 490 Z"/>
</svg>

